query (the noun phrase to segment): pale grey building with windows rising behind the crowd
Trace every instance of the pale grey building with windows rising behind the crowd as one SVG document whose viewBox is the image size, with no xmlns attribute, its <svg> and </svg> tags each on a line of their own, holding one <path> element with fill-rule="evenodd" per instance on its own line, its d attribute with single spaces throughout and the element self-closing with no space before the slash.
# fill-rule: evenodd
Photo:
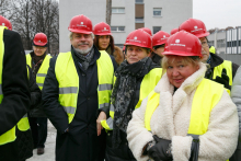
<svg viewBox="0 0 241 161">
<path fill-rule="evenodd" d="M 106 0 L 60 0 L 59 12 L 60 51 L 68 51 L 71 18 L 84 14 L 93 25 L 105 22 Z M 119 47 L 134 30 L 149 27 L 152 34 L 160 30 L 170 33 L 190 18 L 193 18 L 193 0 L 112 0 L 111 28 Z"/>
</svg>

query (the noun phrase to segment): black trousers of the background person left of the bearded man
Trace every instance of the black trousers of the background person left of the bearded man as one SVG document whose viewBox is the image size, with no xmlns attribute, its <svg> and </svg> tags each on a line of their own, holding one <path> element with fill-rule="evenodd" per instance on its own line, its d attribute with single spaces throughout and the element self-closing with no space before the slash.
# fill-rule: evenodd
<svg viewBox="0 0 241 161">
<path fill-rule="evenodd" d="M 28 117 L 34 148 L 45 148 L 47 139 L 47 117 Z"/>
</svg>

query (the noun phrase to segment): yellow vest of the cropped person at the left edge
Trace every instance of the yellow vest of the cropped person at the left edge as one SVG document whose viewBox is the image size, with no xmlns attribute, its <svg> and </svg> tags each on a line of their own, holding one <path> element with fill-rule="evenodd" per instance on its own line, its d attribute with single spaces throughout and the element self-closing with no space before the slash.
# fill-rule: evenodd
<svg viewBox="0 0 241 161">
<path fill-rule="evenodd" d="M 4 56 L 4 42 L 3 42 L 3 31 L 5 26 L 0 26 L 0 104 L 3 99 L 2 92 L 2 69 L 3 69 L 3 56 Z M 15 140 L 15 126 L 0 136 L 0 146 L 12 142 Z"/>
</svg>

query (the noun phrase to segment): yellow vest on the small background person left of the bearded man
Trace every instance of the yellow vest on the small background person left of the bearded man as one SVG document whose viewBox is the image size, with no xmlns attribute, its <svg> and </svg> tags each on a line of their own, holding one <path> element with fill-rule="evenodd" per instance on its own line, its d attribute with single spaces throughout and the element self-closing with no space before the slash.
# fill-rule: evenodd
<svg viewBox="0 0 241 161">
<path fill-rule="evenodd" d="M 48 72 L 50 58 L 51 57 L 49 55 L 45 56 L 44 61 L 41 65 L 41 68 L 36 74 L 36 83 L 41 90 L 44 87 L 44 81 L 45 81 L 46 74 Z M 26 55 L 26 64 L 32 68 L 32 57 L 30 54 Z"/>
</svg>

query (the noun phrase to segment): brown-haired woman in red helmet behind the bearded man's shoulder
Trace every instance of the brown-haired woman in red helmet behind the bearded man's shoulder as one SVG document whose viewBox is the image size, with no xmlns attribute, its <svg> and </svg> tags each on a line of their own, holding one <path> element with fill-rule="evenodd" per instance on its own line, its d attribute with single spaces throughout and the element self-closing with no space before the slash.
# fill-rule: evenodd
<svg viewBox="0 0 241 161">
<path fill-rule="evenodd" d="M 116 64 L 119 66 L 124 61 L 124 54 L 118 46 L 114 45 L 114 38 L 108 24 L 101 22 L 94 26 L 94 45 L 99 50 L 105 50 L 114 56 Z"/>
</svg>

